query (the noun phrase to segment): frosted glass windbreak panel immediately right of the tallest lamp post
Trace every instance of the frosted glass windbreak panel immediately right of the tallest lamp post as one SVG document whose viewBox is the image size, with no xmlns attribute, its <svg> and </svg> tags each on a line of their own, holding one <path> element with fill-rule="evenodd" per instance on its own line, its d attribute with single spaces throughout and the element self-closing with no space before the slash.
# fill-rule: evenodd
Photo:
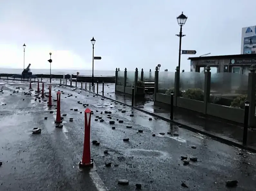
<svg viewBox="0 0 256 191">
<path fill-rule="evenodd" d="M 185 91 L 189 88 L 196 88 L 204 91 L 204 72 L 180 73 L 180 90 Z"/>
</svg>

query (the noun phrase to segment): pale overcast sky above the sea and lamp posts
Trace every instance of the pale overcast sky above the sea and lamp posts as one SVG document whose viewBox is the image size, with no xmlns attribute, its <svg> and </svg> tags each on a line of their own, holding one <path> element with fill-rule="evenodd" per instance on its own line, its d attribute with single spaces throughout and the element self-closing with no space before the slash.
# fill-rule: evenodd
<svg viewBox="0 0 256 191">
<path fill-rule="evenodd" d="M 176 17 L 188 17 L 183 50 L 211 55 L 240 54 L 242 27 L 256 25 L 256 2 L 249 0 L 1 0 L 0 67 L 91 69 L 116 67 L 174 71 L 178 65 Z M 189 55 L 181 69 L 190 71 Z"/>
</svg>

